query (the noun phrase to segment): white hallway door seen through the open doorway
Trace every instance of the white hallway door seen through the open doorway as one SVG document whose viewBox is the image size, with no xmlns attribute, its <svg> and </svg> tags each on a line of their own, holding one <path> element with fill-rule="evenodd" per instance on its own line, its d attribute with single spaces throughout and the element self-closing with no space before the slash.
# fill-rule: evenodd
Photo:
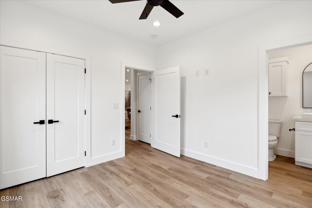
<svg viewBox="0 0 312 208">
<path fill-rule="evenodd" d="M 151 144 L 151 74 L 138 76 L 138 140 Z"/>
</svg>

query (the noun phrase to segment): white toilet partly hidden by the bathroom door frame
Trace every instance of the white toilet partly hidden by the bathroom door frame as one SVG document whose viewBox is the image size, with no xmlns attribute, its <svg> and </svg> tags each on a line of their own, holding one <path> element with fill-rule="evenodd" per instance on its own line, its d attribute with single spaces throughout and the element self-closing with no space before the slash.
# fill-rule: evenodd
<svg viewBox="0 0 312 208">
<path fill-rule="evenodd" d="M 273 121 L 269 120 L 269 162 L 275 160 L 276 155 L 273 152 L 273 149 L 277 146 L 277 137 L 281 135 L 282 121 Z"/>
</svg>

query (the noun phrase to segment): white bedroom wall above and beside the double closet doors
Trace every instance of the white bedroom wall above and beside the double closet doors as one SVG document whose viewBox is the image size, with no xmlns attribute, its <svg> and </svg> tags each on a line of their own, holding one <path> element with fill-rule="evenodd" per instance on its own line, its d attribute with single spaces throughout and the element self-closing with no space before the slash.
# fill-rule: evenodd
<svg viewBox="0 0 312 208">
<path fill-rule="evenodd" d="M 71 51 L 91 56 L 91 164 L 122 156 L 121 61 L 156 69 L 156 46 L 45 11 L 21 1 L 0 1 L 0 44 Z M 139 58 L 138 58 L 139 57 Z M 87 73 L 90 69 L 87 69 Z M 119 103 L 119 109 L 113 109 Z M 88 113 L 88 112 L 87 112 Z M 124 121 L 122 121 L 124 122 Z M 111 146 L 111 139 L 116 145 Z M 90 155 L 89 153 L 87 153 Z"/>
</svg>

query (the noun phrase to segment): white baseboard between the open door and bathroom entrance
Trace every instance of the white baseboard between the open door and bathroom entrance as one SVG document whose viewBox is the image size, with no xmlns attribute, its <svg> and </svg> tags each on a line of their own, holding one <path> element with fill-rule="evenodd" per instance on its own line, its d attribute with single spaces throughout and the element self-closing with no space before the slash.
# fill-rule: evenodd
<svg viewBox="0 0 312 208">
<path fill-rule="evenodd" d="M 254 178 L 259 178 L 259 170 L 253 167 L 245 166 L 242 164 L 234 163 L 231 161 L 223 160 L 206 154 L 202 154 L 196 151 L 181 149 L 181 154 L 187 157 L 192 157 L 196 160 L 200 160 L 206 163 L 210 163 L 225 169 L 233 170 L 245 175 L 252 176 Z"/>
</svg>

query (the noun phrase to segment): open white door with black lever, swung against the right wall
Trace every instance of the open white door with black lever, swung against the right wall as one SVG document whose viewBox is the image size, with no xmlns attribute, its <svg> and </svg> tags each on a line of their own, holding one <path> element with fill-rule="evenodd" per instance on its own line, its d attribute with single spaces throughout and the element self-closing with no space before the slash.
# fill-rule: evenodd
<svg viewBox="0 0 312 208">
<path fill-rule="evenodd" d="M 152 147 L 180 157 L 180 67 L 153 74 Z"/>
</svg>

